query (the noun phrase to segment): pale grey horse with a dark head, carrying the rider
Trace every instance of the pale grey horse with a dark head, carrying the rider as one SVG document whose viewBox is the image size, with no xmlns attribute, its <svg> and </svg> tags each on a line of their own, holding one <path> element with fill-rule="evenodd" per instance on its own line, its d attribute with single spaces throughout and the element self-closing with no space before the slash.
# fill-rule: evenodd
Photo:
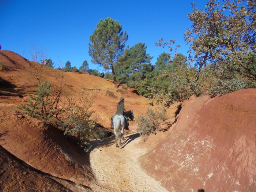
<svg viewBox="0 0 256 192">
<path fill-rule="evenodd" d="M 135 118 L 133 116 L 133 111 L 129 110 L 127 112 L 124 113 L 128 118 L 131 119 L 131 121 L 135 121 Z M 116 136 L 116 147 L 118 147 L 117 144 L 117 140 L 118 140 L 118 136 L 119 136 L 119 129 L 121 129 L 121 134 L 120 134 L 120 141 L 119 141 L 119 148 L 122 148 L 122 139 L 124 140 L 124 127 L 125 127 L 125 120 L 124 120 L 124 116 L 123 115 L 118 115 L 116 114 L 113 117 L 113 125 L 114 125 L 114 133 Z"/>
</svg>

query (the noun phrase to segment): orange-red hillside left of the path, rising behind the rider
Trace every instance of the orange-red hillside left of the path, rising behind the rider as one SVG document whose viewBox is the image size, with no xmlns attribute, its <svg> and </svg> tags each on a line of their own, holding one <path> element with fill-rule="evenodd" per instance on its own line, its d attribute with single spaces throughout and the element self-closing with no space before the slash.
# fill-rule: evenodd
<svg viewBox="0 0 256 192">
<path fill-rule="evenodd" d="M 20 103 L 26 103 L 29 94 L 35 93 L 33 65 L 37 64 L 5 50 L 0 51 L 0 63 L 5 67 L 0 71 L 0 78 L 6 81 L 0 86 L 0 145 L 15 157 L 46 174 L 80 185 L 94 185 L 96 181 L 88 156 L 79 147 L 69 142 L 61 132 L 46 129 L 33 118 L 24 118 L 15 112 Z M 110 127 L 110 117 L 115 113 L 118 98 L 121 96 L 126 97 L 126 109 L 133 109 L 135 117 L 147 110 L 146 98 L 133 93 L 134 89 L 127 86 L 125 89 L 116 89 L 111 80 L 86 73 L 62 73 L 49 67 L 43 68 L 42 80 L 60 86 L 60 74 L 64 75 L 66 82 L 63 91 L 65 94 L 78 95 L 81 88 L 99 90 L 92 109 L 95 110 L 98 122 L 105 127 Z M 135 124 L 136 122 L 131 123 Z M 11 169 L 8 174 L 11 174 Z M 0 177 L 0 181 L 2 179 Z M 56 184 L 56 190 L 58 189 Z M 77 190 L 76 188 L 75 191 Z"/>
</svg>

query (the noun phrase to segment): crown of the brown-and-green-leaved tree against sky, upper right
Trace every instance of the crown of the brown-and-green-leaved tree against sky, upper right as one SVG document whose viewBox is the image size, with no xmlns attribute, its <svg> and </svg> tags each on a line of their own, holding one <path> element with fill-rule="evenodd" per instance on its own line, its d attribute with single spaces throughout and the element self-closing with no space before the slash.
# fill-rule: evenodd
<svg viewBox="0 0 256 192">
<path fill-rule="evenodd" d="M 240 63 L 256 48 L 254 9 L 253 0 L 224 1 L 222 6 L 217 0 L 208 0 L 205 10 L 194 8 L 188 14 L 192 27 L 185 32 L 190 61 L 199 68 L 207 62 Z"/>
</svg>

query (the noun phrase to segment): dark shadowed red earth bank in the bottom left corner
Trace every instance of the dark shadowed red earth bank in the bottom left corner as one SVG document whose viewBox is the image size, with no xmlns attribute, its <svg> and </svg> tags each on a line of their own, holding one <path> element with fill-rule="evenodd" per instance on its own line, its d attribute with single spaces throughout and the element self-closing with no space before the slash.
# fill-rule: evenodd
<svg viewBox="0 0 256 192">
<path fill-rule="evenodd" d="M 0 191 L 91 191 L 34 169 L 2 146 L 0 157 Z"/>
</svg>

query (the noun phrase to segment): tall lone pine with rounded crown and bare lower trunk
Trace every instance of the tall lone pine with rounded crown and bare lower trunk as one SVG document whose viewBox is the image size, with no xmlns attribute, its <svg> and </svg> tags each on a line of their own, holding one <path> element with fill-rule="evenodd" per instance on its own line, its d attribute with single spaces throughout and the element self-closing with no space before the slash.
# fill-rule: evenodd
<svg viewBox="0 0 256 192">
<path fill-rule="evenodd" d="M 127 40 L 128 35 L 126 31 L 123 33 L 122 25 L 111 18 L 101 19 L 90 35 L 89 54 L 93 58 L 92 62 L 105 69 L 111 69 L 116 85 L 114 66 L 118 57 L 123 54 Z"/>
</svg>

